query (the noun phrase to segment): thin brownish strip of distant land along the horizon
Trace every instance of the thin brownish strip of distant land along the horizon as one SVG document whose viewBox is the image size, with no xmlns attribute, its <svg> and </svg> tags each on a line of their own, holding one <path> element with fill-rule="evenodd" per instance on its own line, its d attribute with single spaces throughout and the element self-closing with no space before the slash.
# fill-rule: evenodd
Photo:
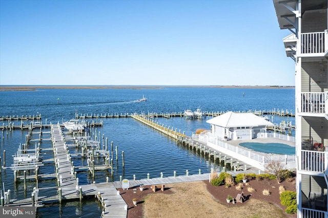
<svg viewBox="0 0 328 218">
<path fill-rule="evenodd" d="M 37 89 L 165 89 L 165 88 L 214 88 L 214 89 L 295 89 L 289 85 L 0 85 L 0 91 L 35 91 Z"/>
</svg>

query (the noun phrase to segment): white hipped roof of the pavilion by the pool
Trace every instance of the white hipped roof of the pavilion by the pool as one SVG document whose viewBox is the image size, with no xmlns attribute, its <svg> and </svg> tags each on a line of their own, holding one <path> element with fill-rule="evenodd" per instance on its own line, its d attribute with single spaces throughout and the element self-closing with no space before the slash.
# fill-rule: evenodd
<svg viewBox="0 0 328 218">
<path fill-rule="evenodd" d="M 206 121 L 210 124 L 222 127 L 237 127 L 237 126 L 271 126 L 272 122 L 265 120 L 252 113 L 234 113 L 227 112 L 213 119 Z"/>
</svg>

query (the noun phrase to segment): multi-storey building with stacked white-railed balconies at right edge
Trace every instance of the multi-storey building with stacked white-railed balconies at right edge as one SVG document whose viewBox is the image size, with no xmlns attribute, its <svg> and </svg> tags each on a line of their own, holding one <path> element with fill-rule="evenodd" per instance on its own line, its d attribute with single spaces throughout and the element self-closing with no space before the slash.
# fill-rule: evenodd
<svg viewBox="0 0 328 218">
<path fill-rule="evenodd" d="M 286 55 L 295 61 L 298 217 L 328 218 L 327 2 L 273 0 L 280 29 L 291 31 Z"/>
</svg>

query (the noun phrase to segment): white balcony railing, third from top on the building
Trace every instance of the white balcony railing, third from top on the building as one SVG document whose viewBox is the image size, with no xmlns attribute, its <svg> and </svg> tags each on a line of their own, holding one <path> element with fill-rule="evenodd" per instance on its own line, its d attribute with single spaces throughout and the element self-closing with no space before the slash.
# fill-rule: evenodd
<svg viewBox="0 0 328 218">
<path fill-rule="evenodd" d="M 301 170 L 324 172 L 327 154 L 324 151 L 302 150 Z"/>
</svg>

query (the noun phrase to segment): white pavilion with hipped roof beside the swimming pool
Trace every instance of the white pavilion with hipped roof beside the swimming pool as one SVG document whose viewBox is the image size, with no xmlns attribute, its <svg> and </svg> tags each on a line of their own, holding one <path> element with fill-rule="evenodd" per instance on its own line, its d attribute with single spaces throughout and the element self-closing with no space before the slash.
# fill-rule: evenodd
<svg viewBox="0 0 328 218">
<path fill-rule="evenodd" d="M 220 140 L 248 140 L 266 138 L 272 122 L 252 113 L 227 112 L 206 121 L 211 124 L 212 135 Z"/>
</svg>

